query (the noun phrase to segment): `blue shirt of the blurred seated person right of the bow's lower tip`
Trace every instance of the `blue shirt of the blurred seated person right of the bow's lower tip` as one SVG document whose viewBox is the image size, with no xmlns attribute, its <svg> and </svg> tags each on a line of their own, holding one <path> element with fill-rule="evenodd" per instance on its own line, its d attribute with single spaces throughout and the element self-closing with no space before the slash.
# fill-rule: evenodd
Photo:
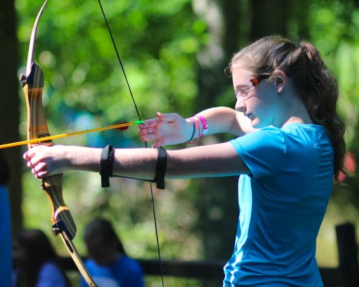
<svg viewBox="0 0 359 287">
<path fill-rule="evenodd" d="M 122 255 L 115 262 L 101 266 L 94 260 L 85 261 L 86 269 L 98 286 L 106 287 L 143 287 L 144 278 L 141 265 L 126 255 Z M 88 284 L 81 277 L 81 287 Z"/>
</svg>

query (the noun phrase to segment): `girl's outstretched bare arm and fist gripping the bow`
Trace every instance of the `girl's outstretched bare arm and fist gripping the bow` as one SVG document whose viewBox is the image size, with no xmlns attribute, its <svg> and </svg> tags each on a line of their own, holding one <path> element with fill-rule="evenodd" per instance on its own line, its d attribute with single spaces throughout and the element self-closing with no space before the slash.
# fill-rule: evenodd
<svg viewBox="0 0 359 287">
<path fill-rule="evenodd" d="M 67 170 L 99 172 L 101 148 L 38 145 L 24 154 L 37 178 Z M 155 178 L 157 149 L 115 149 L 113 174 L 152 180 Z M 166 178 L 222 177 L 248 174 L 249 170 L 229 143 L 167 150 Z"/>
</svg>

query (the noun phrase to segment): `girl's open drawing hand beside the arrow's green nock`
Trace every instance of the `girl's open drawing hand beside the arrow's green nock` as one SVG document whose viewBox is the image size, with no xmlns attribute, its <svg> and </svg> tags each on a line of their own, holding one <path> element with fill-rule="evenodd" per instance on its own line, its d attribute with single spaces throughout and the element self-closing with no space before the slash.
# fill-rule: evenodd
<svg viewBox="0 0 359 287">
<path fill-rule="evenodd" d="M 152 147 L 184 143 L 190 140 L 193 132 L 191 121 L 177 113 L 156 113 L 156 118 L 138 125 L 142 141 L 156 141 Z"/>
</svg>

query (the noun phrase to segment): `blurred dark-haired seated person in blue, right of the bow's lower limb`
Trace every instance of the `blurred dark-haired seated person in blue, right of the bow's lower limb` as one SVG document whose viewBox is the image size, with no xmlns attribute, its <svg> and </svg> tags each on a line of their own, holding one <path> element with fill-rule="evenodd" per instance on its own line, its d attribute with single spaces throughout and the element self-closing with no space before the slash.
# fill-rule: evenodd
<svg viewBox="0 0 359 287">
<path fill-rule="evenodd" d="M 85 243 L 89 258 L 85 266 L 98 286 L 143 287 L 141 265 L 126 255 L 110 221 L 96 218 L 86 226 Z M 84 278 L 81 287 L 87 287 Z"/>
</svg>

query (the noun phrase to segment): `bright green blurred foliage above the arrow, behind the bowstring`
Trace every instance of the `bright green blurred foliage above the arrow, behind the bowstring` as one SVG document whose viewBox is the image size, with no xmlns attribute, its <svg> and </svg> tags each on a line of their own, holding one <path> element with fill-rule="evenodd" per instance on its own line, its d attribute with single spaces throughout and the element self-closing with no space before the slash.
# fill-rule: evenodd
<svg viewBox="0 0 359 287">
<path fill-rule="evenodd" d="M 18 10 L 24 14 L 18 31 L 25 56 L 41 1 L 20 3 Z M 104 1 L 103 7 L 141 114 L 153 116 L 157 109 L 170 110 L 172 105 L 191 112 L 197 92 L 194 57 L 202 45 L 203 29 L 198 28 L 190 3 Z M 97 1 L 60 5 L 49 1 L 36 42 L 35 60 L 45 72 L 49 120 L 64 123 L 58 130 L 73 122 L 73 111 L 89 112 L 100 124 L 136 117 Z"/>
</svg>

